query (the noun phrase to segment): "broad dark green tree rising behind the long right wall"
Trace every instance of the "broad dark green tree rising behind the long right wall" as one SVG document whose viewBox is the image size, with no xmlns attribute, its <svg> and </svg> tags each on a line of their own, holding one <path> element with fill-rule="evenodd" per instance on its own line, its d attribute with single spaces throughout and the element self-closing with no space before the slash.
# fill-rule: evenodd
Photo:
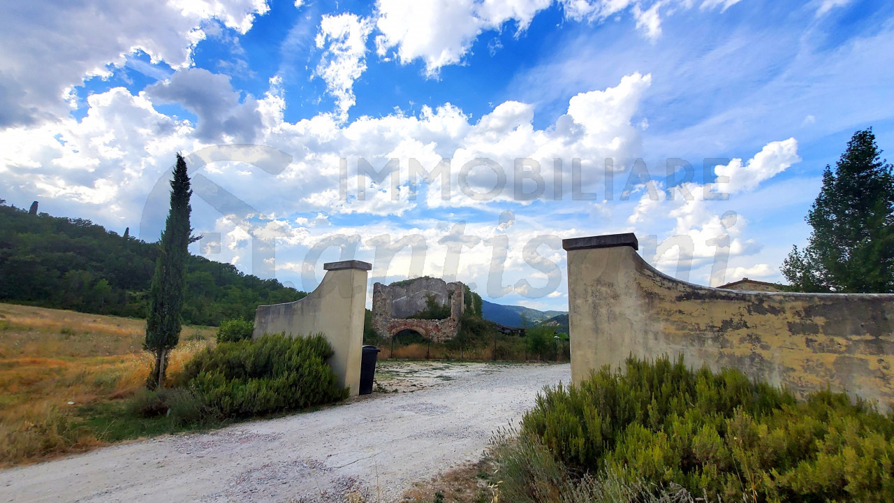
<svg viewBox="0 0 894 503">
<path fill-rule="evenodd" d="M 872 128 L 854 133 L 834 172 L 826 166 L 806 220 L 814 228 L 807 246 L 781 268 L 795 289 L 894 291 L 894 176 Z"/>
</svg>

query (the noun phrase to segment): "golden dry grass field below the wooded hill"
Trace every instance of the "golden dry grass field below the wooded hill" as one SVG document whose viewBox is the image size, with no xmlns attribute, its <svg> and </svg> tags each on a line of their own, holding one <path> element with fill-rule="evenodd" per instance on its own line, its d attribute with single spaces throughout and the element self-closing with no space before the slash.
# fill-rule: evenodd
<svg viewBox="0 0 894 503">
<path fill-rule="evenodd" d="M 145 386 L 144 320 L 0 303 L 0 466 L 29 463 L 164 431 L 118 420 Z M 215 328 L 184 327 L 169 375 L 214 344 Z"/>
</svg>

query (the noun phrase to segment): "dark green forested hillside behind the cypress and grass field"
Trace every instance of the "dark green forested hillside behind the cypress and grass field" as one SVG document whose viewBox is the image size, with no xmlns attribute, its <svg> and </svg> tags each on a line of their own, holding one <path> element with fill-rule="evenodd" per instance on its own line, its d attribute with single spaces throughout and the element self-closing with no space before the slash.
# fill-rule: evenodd
<svg viewBox="0 0 894 503">
<path fill-rule="evenodd" d="M 0 205 L 0 301 L 144 318 L 159 248 L 89 220 Z M 259 304 L 305 296 L 275 279 L 190 255 L 183 321 L 254 317 Z"/>
</svg>

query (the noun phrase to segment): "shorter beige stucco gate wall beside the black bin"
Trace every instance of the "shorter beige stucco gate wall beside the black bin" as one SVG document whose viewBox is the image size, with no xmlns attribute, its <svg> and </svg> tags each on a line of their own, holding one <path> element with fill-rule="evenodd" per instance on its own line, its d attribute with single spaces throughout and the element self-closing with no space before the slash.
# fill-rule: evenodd
<svg viewBox="0 0 894 503">
<path fill-rule="evenodd" d="M 363 313 L 367 304 L 367 271 L 359 260 L 323 265 L 326 274 L 316 290 L 294 303 L 257 306 L 254 337 L 285 332 L 308 336 L 323 332 L 333 346 L 329 366 L 351 395 L 360 389 Z"/>
</svg>

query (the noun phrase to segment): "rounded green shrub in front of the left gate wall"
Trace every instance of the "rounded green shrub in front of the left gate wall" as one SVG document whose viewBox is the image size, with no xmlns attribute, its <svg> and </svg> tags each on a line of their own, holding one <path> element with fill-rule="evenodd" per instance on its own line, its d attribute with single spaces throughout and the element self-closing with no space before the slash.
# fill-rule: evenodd
<svg viewBox="0 0 894 503">
<path fill-rule="evenodd" d="M 199 352 L 183 379 L 223 417 L 298 410 L 348 396 L 325 362 L 332 354 L 322 335 L 265 335 Z"/>
</svg>

